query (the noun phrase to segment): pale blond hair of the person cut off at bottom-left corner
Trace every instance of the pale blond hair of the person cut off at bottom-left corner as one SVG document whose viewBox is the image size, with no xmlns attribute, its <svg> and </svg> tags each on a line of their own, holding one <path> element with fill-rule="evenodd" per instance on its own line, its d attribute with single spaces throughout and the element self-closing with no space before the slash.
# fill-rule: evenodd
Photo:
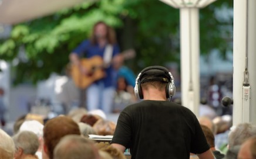
<svg viewBox="0 0 256 159">
<path fill-rule="evenodd" d="M 0 158 L 13 159 L 15 146 L 11 136 L 0 129 Z"/>
</svg>

